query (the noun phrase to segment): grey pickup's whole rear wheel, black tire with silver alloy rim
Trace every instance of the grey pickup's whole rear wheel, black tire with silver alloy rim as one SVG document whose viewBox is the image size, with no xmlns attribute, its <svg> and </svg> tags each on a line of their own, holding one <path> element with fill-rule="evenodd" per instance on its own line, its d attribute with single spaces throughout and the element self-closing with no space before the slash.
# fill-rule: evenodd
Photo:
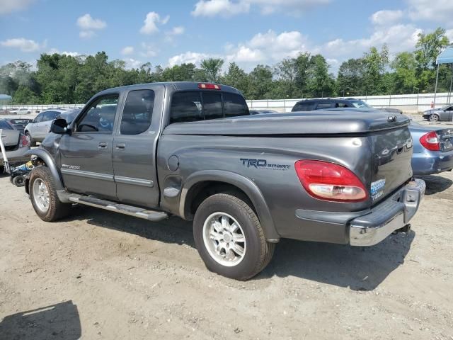
<svg viewBox="0 0 453 340">
<path fill-rule="evenodd" d="M 206 267 L 236 280 L 247 280 L 260 273 L 272 259 L 275 248 L 275 244 L 266 242 L 250 205 L 228 193 L 217 193 L 200 204 L 195 212 L 193 234 Z"/>
</svg>

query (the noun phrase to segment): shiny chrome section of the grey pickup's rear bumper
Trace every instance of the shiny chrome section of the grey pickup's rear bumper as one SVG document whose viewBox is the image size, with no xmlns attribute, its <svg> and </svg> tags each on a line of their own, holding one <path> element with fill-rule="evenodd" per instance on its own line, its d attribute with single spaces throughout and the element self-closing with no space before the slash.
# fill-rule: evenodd
<svg viewBox="0 0 453 340">
<path fill-rule="evenodd" d="M 425 194 L 425 182 L 415 179 L 394 193 L 367 215 L 350 221 L 351 246 L 372 246 L 403 228 L 418 210 Z"/>
</svg>

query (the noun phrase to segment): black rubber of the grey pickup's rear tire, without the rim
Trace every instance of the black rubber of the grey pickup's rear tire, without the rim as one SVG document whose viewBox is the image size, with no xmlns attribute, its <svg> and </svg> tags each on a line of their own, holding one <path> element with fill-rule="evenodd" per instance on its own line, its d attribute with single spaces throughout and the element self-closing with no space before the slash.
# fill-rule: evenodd
<svg viewBox="0 0 453 340">
<path fill-rule="evenodd" d="M 243 259 L 235 266 L 224 266 L 216 261 L 207 250 L 203 239 L 203 227 L 208 217 L 223 212 L 234 217 L 243 231 L 246 251 Z M 251 207 L 229 193 L 217 193 L 206 198 L 195 212 L 193 221 L 195 245 L 206 267 L 228 278 L 247 280 L 260 273 L 272 259 L 275 244 L 266 242 L 263 228 Z"/>
</svg>

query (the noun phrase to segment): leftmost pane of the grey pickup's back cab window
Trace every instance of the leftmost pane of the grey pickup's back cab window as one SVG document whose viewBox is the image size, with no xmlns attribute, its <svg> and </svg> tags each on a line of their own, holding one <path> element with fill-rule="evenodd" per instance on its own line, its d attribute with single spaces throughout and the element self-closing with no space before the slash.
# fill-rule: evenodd
<svg viewBox="0 0 453 340">
<path fill-rule="evenodd" d="M 171 98 L 170 124 L 203 120 L 199 91 L 176 92 Z"/>
</svg>

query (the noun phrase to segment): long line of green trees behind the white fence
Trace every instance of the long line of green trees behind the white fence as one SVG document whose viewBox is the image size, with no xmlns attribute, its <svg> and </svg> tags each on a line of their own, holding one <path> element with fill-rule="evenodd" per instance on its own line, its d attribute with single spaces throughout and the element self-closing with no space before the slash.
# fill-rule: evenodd
<svg viewBox="0 0 453 340">
<path fill-rule="evenodd" d="M 415 50 L 389 56 L 384 45 L 371 47 L 362 57 L 346 60 L 336 76 L 325 57 L 309 52 L 286 58 L 273 66 L 258 64 L 246 72 L 235 62 L 202 60 L 173 67 L 142 64 L 127 69 L 122 60 L 108 60 L 105 52 L 70 56 L 42 54 L 36 69 L 17 61 L 0 67 L 0 94 L 13 103 L 85 103 L 103 89 L 155 81 L 211 81 L 234 86 L 247 99 L 372 96 L 434 91 L 435 58 L 449 45 L 445 29 L 420 33 Z M 438 91 L 449 91 L 452 67 L 441 65 Z"/>
</svg>

